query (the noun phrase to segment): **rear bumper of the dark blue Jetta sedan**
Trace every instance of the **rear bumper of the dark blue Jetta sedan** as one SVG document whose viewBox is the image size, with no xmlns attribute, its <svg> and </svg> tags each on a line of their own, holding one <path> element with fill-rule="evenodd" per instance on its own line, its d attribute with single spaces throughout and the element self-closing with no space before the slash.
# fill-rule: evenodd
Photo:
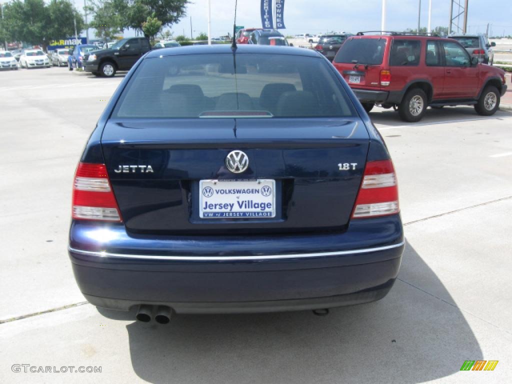
<svg viewBox="0 0 512 384">
<path fill-rule="evenodd" d="M 86 237 L 105 240 L 112 233 L 75 222 L 69 255 L 80 290 L 99 307 L 166 305 L 177 313 L 329 308 L 379 300 L 398 274 L 404 248 L 400 218 L 366 220 L 380 227 L 373 233 L 380 244 L 366 238 L 371 229 L 361 232 L 361 222 L 341 234 L 182 237 L 165 240 L 169 248 L 153 238 L 152 250 L 135 247 L 140 238 L 124 250 L 116 244 L 80 245 Z"/>
</svg>

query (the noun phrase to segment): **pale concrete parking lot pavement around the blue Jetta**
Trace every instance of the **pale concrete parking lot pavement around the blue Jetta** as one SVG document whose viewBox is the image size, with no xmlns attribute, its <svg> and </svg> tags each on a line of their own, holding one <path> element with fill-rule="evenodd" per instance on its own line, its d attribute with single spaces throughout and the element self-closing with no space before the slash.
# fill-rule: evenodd
<svg viewBox="0 0 512 384">
<path fill-rule="evenodd" d="M 444 108 L 416 124 L 371 113 L 395 163 L 408 242 L 383 300 L 325 317 L 180 315 L 161 326 L 84 303 L 66 251 L 74 169 L 120 79 L 0 72 L 0 382 L 512 380 L 512 113 Z M 499 363 L 460 371 L 481 359 Z"/>
</svg>

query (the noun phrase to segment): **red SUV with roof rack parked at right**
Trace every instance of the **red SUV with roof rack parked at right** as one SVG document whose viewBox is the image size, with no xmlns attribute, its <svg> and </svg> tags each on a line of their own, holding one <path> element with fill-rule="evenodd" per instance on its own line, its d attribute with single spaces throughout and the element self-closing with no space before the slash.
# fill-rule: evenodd
<svg viewBox="0 0 512 384">
<path fill-rule="evenodd" d="M 478 63 L 444 37 L 359 32 L 333 64 L 367 112 L 375 104 L 398 107 L 404 121 L 419 121 L 427 106 L 474 105 L 478 114 L 492 115 L 507 89 L 503 70 Z"/>
</svg>

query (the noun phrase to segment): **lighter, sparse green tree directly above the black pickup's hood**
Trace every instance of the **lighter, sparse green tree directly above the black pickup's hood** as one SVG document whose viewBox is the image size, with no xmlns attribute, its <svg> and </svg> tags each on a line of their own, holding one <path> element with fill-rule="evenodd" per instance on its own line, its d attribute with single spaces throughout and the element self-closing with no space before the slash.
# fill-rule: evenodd
<svg viewBox="0 0 512 384">
<path fill-rule="evenodd" d="M 96 37 L 106 42 L 122 33 L 122 18 L 116 12 L 112 1 L 89 0 L 88 3 L 84 9 L 93 15 L 89 27 L 96 30 Z"/>
</svg>

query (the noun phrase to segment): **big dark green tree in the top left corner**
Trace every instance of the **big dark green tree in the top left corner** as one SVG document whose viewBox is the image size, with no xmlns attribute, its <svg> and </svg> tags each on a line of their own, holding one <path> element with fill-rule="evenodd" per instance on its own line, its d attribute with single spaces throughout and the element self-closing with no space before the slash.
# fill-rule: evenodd
<svg viewBox="0 0 512 384">
<path fill-rule="evenodd" d="M 74 36 L 84 28 L 83 18 L 69 0 L 14 0 L 4 6 L 4 29 L 8 40 L 42 45 L 51 40 Z"/>
</svg>

